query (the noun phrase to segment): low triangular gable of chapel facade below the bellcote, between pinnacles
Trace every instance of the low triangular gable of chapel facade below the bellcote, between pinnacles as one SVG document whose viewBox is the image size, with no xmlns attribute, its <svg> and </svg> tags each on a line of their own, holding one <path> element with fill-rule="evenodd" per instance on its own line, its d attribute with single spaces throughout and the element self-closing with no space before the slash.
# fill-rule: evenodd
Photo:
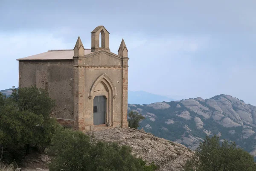
<svg viewBox="0 0 256 171">
<path fill-rule="evenodd" d="M 114 53 L 102 50 L 89 55 L 85 55 L 84 65 L 122 66 L 122 58 Z"/>
</svg>

